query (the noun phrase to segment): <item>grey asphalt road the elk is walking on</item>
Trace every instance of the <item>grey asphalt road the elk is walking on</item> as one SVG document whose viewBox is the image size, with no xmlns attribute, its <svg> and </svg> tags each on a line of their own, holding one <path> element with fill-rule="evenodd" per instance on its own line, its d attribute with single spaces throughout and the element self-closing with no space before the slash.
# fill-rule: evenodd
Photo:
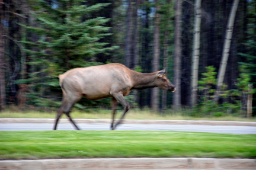
<svg viewBox="0 0 256 170">
<path fill-rule="evenodd" d="M 108 123 L 78 123 L 82 130 L 110 130 Z M 52 130 L 53 123 L 0 123 L 0 131 Z M 57 130 L 74 130 L 70 123 L 58 124 Z M 255 126 L 209 126 L 177 124 L 120 124 L 116 130 L 200 131 L 210 133 L 256 134 Z"/>
</svg>

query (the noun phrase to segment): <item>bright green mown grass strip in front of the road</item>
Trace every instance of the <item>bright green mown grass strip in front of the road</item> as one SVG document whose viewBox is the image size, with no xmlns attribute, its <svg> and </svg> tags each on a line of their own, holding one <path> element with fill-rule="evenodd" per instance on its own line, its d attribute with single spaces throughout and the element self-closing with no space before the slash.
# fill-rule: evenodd
<svg viewBox="0 0 256 170">
<path fill-rule="evenodd" d="M 256 134 L 0 131 L 0 159 L 256 158 Z"/>
</svg>

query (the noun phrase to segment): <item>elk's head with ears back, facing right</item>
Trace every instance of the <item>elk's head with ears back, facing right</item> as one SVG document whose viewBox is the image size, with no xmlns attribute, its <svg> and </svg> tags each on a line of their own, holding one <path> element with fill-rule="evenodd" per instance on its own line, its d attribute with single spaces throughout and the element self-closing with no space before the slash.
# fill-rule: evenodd
<svg viewBox="0 0 256 170">
<path fill-rule="evenodd" d="M 164 90 L 169 92 L 174 92 L 176 90 L 175 86 L 168 80 L 167 76 L 165 76 L 167 70 L 161 70 L 156 73 L 156 85 Z"/>
</svg>

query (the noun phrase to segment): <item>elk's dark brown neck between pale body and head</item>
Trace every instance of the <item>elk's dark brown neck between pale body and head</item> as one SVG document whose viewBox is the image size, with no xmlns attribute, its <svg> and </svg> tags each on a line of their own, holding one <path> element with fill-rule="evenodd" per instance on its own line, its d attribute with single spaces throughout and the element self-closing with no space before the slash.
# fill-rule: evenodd
<svg viewBox="0 0 256 170">
<path fill-rule="evenodd" d="M 133 88 L 132 89 L 146 89 L 156 87 L 155 79 L 156 73 L 132 73 Z"/>
</svg>

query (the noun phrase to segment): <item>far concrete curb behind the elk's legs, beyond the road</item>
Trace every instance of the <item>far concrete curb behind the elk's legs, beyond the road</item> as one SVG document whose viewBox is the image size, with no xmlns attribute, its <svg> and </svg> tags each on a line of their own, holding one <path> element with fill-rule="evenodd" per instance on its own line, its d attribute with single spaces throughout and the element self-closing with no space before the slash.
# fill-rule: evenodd
<svg viewBox="0 0 256 170">
<path fill-rule="evenodd" d="M 76 123 L 110 123 L 109 119 L 74 118 Z M 55 118 L 0 118 L 0 123 L 54 123 Z M 60 119 L 60 123 L 69 123 L 67 118 Z M 251 121 L 204 121 L 204 120 L 124 120 L 129 124 L 201 124 L 219 126 L 256 126 Z"/>
</svg>

